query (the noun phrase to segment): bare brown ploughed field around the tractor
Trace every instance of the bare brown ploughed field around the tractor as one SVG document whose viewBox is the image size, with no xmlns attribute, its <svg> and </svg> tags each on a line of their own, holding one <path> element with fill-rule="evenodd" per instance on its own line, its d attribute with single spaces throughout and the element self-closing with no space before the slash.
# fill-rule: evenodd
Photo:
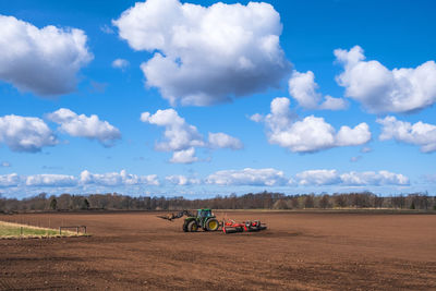
<svg viewBox="0 0 436 291">
<path fill-rule="evenodd" d="M 93 233 L 0 240 L 0 290 L 436 290 L 436 215 L 227 215 L 269 229 L 184 233 L 153 213 L 0 216 Z"/>
</svg>

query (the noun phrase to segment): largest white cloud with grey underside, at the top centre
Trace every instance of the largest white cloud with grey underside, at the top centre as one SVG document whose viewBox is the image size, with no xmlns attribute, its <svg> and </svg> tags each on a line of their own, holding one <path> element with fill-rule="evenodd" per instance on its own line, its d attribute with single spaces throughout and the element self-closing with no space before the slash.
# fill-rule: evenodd
<svg viewBox="0 0 436 291">
<path fill-rule="evenodd" d="M 147 0 L 113 25 L 134 50 L 154 52 L 141 69 L 171 105 L 207 106 L 278 87 L 290 68 L 280 15 L 267 3 Z"/>
</svg>

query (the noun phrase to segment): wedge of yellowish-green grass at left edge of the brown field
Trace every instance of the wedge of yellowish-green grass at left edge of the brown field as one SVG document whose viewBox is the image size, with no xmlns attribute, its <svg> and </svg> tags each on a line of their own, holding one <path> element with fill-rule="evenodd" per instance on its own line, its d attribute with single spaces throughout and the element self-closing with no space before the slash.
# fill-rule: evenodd
<svg viewBox="0 0 436 291">
<path fill-rule="evenodd" d="M 86 233 L 78 234 L 75 231 L 38 228 L 19 223 L 0 221 L 0 239 L 43 239 L 43 238 L 63 238 L 63 237 L 83 237 Z"/>
</svg>

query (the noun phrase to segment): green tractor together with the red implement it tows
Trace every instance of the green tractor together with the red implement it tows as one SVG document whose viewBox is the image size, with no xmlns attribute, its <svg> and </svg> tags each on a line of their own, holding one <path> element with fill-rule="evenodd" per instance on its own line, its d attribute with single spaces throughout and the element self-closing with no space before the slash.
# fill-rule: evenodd
<svg viewBox="0 0 436 291">
<path fill-rule="evenodd" d="M 178 214 L 169 214 L 158 217 L 172 221 L 184 216 L 186 217 L 183 222 L 184 232 L 195 232 L 198 229 L 203 229 L 204 231 L 217 231 L 221 228 L 222 232 L 227 234 L 243 231 L 261 231 L 266 229 L 265 223 L 262 223 L 261 220 L 235 222 L 232 219 L 227 219 L 219 222 L 209 208 L 197 209 L 196 214 L 189 210 L 182 210 Z"/>
</svg>

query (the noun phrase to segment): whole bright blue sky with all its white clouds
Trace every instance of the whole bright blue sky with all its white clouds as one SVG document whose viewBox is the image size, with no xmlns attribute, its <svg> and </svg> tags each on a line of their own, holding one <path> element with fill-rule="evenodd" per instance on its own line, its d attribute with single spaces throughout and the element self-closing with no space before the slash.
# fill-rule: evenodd
<svg viewBox="0 0 436 291">
<path fill-rule="evenodd" d="M 434 1 L 0 2 L 0 195 L 436 190 Z"/>
</svg>

